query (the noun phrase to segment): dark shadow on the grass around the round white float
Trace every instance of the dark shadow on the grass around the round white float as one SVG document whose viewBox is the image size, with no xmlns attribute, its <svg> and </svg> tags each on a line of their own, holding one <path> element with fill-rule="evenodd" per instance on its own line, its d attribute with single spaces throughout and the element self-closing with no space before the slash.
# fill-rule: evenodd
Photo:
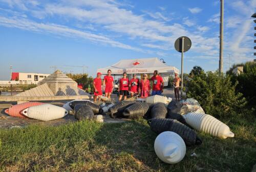
<svg viewBox="0 0 256 172">
<path fill-rule="evenodd" d="M 239 129 L 236 129 L 239 132 Z M 219 139 L 205 133 L 199 133 L 202 145 L 186 147 L 186 156 L 177 164 L 160 161 L 154 151 L 157 134 L 150 130 L 145 120 L 104 124 L 95 135 L 97 145 L 106 146 L 113 158 L 122 160 L 130 157 L 138 168 L 162 171 L 248 171 L 256 162 L 253 155 L 256 147 L 253 140 L 239 138 Z M 251 136 L 252 137 L 252 136 Z M 245 145 L 245 144 L 246 145 Z M 196 153 L 196 156 L 190 156 Z M 128 161 L 129 162 L 129 161 Z M 115 165 L 125 164 L 115 162 Z M 131 164 L 129 164 L 131 165 Z"/>
</svg>

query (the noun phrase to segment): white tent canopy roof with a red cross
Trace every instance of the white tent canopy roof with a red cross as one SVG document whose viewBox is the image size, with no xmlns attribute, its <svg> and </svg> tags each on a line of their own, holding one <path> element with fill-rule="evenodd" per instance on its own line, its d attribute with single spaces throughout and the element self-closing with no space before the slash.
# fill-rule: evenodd
<svg viewBox="0 0 256 172">
<path fill-rule="evenodd" d="M 112 66 L 98 69 L 97 72 L 102 74 L 107 74 L 108 70 L 112 71 L 112 74 L 122 74 L 126 72 L 127 74 L 133 73 L 154 73 L 158 70 L 159 73 L 178 73 L 179 70 L 175 67 L 165 65 L 158 58 L 139 58 L 139 59 L 124 59 L 120 60 Z"/>
</svg>

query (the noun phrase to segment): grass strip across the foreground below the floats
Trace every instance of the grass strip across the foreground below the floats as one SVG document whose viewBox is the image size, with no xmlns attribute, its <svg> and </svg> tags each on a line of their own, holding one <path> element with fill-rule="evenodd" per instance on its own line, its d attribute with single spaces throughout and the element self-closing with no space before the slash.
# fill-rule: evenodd
<svg viewBox="0 0 256 172">
<path fill-rule="evenodd" d="M 203 144 L 187 147 L 186 156 L 177 164 L 157 158 L 157 135 L 143 119 L 0 130 L 0 170 L 250 171 L 256 163 L 255 123 L 228 125 L 235 138 L 222 140 L 198 132 Z M 193 153 L 197 156 L 191 157 Z"/>
</svg>

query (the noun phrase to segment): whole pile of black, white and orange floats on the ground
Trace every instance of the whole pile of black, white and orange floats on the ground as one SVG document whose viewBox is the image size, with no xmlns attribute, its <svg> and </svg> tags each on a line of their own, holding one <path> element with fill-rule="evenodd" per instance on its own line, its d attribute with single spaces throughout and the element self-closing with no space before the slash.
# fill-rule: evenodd
<svg viewBox="0 0 256 172">
<path fill-rule="evenodd" d="M 154 144 L 156 155 L 170 164 L 178 163 L 185 157 L 186 146 L 202 144 L 197 132 L 205 132 L 221 139 L 234 137 L 226 124 L 205 114 L 199 102 L 193 98 L 176 102 L 155 95 L 147 98 L 133 97 L 116 103 L 76 99 L 62 107 L 26 102 L 10 106 L 5 113 L 13 117 L 42 121 L 63 118 L 69 113 L 74 114 L 77 120 L 98 122 L 104 122 L 103 116 L 130 120 L 144 118 L 151 130 L 158 134 Z"/>
</svg>

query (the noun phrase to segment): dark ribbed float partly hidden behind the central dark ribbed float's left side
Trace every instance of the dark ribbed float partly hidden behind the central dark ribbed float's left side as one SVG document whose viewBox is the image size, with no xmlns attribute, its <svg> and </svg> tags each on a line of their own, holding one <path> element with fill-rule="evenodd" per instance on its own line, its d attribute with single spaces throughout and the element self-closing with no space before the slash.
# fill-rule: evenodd
<svg viewBox="0 0 256 172">
<path fill-rule="evenodd" d="M 119 116 L 122 116 L 123 111 L 126 109 L 126 107 L 129 107 L 130 105 L 134 104 L 134 101 L 120 101 L 110 107 L 110 116 L 112 118 L 116 118 Z"/>
</svg>

